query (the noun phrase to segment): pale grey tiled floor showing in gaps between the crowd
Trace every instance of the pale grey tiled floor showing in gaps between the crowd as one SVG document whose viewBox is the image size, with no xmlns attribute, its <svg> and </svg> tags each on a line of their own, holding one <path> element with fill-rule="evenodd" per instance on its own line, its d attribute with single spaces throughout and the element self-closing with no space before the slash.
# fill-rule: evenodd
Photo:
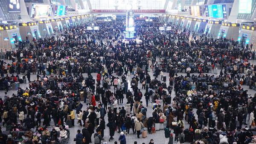
<svg viewBox="0 0 256 144">
<path fill-rule="evenodd" d="M 159 60 L 159 59 L 157 58 L 157 61 L 158 61 L 158 60 Z M 250 61 L 250 62 L 251 62 L 251 63 L 256 63 L 256 60 L 252 60 L 252 61 Z M 219 73 L 219 71 L 218 71 L 218 73 Z M 96 79 L 96 73 L 93 73 L 92 75 L 93 75 L 93 78 Z M 153 77 L 152 70 L 149 72 L 149 75 L 151 75 L 151 78 L 154 78 L 154 77 Z M 168 80 L 168 79 L 169 79 L 169 73 L 164 73 L 164 75 L 166 75 L 166 79 Z M 178 73 L 178 75 L 186 75 L 186 74 Z M 191 74 L 191 75 L 192 75 L 192 74 Z M 195 74 L 195 75 L 198 75 L 198 74 Z M 114 76 L 116 76 L 116 75 L 114 74 Z M 84 77 L 87 77 L 87 74 L 84 74 Z M 34 80 L 35 78 L 36 78 L 36 75 L 31 75 L 31 80 Z M 119 78 L 121 78 L 121 77 L 119 77 Z M 132 78 L 132 76 L 129 76 L 129 77 L 128 77 L 129 89 L 130 89 L 130 81 L 131 81 L 131 78 Z M 159 76 L 158 78 L 160 78 L 160 76 Z M 169 86 L 169 81 L 166 81 L 166 84 L 167 84 L 167 86 Z M 20 87 L 21 87 L 22 89 L 26 89 L 26 87 L 28 87 L 28 84 L 20 84 Z M 139 84 L 138 87 L 139 87 L 139 89 L 141 89 L 141 88 L 142 88 L 142 85 Z M 251 94 L 251 95 L 254 95 L 254 94 L 255 94 L 255 91 L 254 91 L 253 89 L 249 89 L 248 86 L 243 86 L 243 87 L 244 87 L 244 89 L 248 89 L 248 94 Z M 113 91 L 113 86 L 111 86 L 111 90 Z M 132 89 L 130 89 L 130 90 L 132 91 Z M 144 89 L 141 89 L 141 91 L 143 92 L 143 95 L 144 95 L 145 90 L 144 90 Z M 11 91 L 8 92 L 9 95 L 12 95 L 12 93 L 15 93 L 15 94 L 16 94 L 17 92 L 14 91 L 14 90 L 11 90 Z M 175 92 L 172 92 L 172 98 L 175 97 L 174 93 L 175 93 Z M 1 91 L 1 92 L 0 92 L 0 97 L 3 98 L 3 96 L 4 96 L 4 91 Z M 142 101 L 143 101 L 143 104 L 145 105 L 145 98 L 143 98 Z M 127 100 L 124 99 L 124 104 L 126 104 L 126 102 L 127 102 Z M 82 103 L 82 104 L 83 104 L 83 103 Z M 161 102 L 161 105 L 163 106 L 163 102 Z M 122 105 L 122 104 L 119 105 L 119 107 L 122 107 L 122 106 L 124 106 L 124 105 Z M 86 109 L 86 107 L 87 107 L 87 106 L 84 104 L 82 109 Z M 147 111 L 147 117 L 152 116 L 152 110 L 153 110 L 153 109 L 152 109 L 151 107 L 152 107 L 152 104 L 150 103 L 150 104 L 148 105 L 148 107 L 147 107 L 147 109 L 148 109 L 148 111 Z M 194 109 L 194 113 L 195 113 L 195 115 L 196 115 L 196 109 Z M 77 115 L 76 115 L 76 117 L 77 117 Z M 105 116 L 105 121 L 106 121 L 106 124 L 108 124 L 108 117 L 107 117 L 107 115 Z M 52 125 L 52 126 L 54 125 L 53 121 L 52 121 L 51 125 Z M 188 127 L 189 127 L 189 125 L 185 122 L 185 129 L 188 128 Z M 75 121 L 75 127 L 70 128 L 70 140 L 69 140 L 69 144 L 75 144 L 75 142 L 73 141 L 73 138 L 76 137 L 76 131 L 77 131 L 77 130 L 81 130 L 81 129 L 82 129 L 82 127 L 80 127 L 79 124 L 76 124 L 76 121 Z M 5 130 L 5 127 L 4 127 L 2 130 Z M 172 131 L 172 132 L 173 132 L 173 131 Z M 105 133 L 105 134 L 104 134 L 104 135 L 105 135 L 105 136 L 104 136 L 104 139 L 105 139 L 105 140 L 108 140 L 108 138 L 109 138 L 109 129 L 108 129 L 108 127 L 106 127 L 104 133 Z M 119 133 L 115 132 L 115 135 L 114 135 L 113 138 L 114 138 L 114 140 L 111 141 L 111 142 L 108 141 L 108 144 L 114 144 L 114 141 L 118 141 Z M 133 134 L 132 134 L 132 130 L 130 130 L 130 135 L 126 135 L 126 142 L 127 142 L 127 144 L 134 144 L 134 141 L 137 141 L 137 142 L 138 142 L 137 144 L 142 144 L 143 142 L 144 142 L 145 144 L 148 144 L 151 138 L 154 139 L 154 144 L 165 144 L 165 138 L 164 138 L 164 131 L 163 131 L 163 130 L 157 131 L 156 133 L 151 134 L 151 135 L 148 134 L 148 137 L 147 137 L 147 138 L 142 138 L 142 135 L 140 135 L 140 138 L 137 138 L 137 135 L 136 135 L 136 134 L 133 135 Z M 93 141 L 93 143 L 94 143 L 93 136 L 92 136 L 92 141 Z M 168 143 L 168 141 L 167 141 L 167 143 Z"/>
</svg>

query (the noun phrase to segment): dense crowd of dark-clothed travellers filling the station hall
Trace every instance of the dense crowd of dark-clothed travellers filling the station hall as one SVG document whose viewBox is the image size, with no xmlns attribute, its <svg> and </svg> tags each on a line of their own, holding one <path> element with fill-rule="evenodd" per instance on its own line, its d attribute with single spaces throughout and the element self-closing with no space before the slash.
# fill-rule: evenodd
<svg viewBox="0 0 256 144">
<path fill-rule="evenodd" d="M 255 89 L 256 83 L 256 66 L 248 61 L 255 52 L 248 46 L 191 37 L 172 24 L 161 33 L 158 20 L 135 20 L 137 40 L 124 42 L 124 19 L 93 23 L 99 31 L 70 27 L 6 52 L 1 144 L 64 144 L 76 120 L 76 144 L 126 144 L 128 135 L 154 138 L 160 129 L 165 144 L 256 142 L 256 98 L 243 86 Z M 17 93 L 8 94 L 11 89 Z"/>
</svg>

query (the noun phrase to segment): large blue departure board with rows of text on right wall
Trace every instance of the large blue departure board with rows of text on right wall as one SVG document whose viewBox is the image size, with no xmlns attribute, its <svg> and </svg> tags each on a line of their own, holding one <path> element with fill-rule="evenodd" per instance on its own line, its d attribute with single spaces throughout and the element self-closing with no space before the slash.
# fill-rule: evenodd
<svg viewBox="0 0 256 144">
<path fill-rule="evenodd" d="M 214 18 L 226 18 L 227 17 L 226 5 L 209 5 L 206 7 L 206 9 L 208 10 L 208 14 L 207 14 L 208 17 L 214 17 Z M 225 17 L 224 17 L 223 10 L 225 11 Z"/>
</svg>

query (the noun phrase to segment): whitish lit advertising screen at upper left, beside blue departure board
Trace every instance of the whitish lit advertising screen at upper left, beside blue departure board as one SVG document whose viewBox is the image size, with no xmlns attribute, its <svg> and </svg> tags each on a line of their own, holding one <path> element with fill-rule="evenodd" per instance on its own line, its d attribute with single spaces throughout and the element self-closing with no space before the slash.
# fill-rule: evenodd
<svg viewBox="0 0 256 144">
<path fill-rule="evenodd" d="M 50 5 L 32 4 L 31 18 L 50 17 L 51 10 Z"/>
</svg>

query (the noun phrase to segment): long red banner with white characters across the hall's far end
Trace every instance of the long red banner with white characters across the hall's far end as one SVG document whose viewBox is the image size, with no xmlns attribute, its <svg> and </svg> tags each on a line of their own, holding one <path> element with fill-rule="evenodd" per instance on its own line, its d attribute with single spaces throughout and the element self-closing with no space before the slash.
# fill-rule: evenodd
<svg viewBox="0 0 256 144">
<path fill-rule="evenodd" d="M 125 9 L 93 9 L 92 12 L 124 12 L 126 13 L 127 10 Z M 134 9 L 132 10 L 134 13 L 165 13 L 166 11 L 164 9 Z"/>
</svg>

